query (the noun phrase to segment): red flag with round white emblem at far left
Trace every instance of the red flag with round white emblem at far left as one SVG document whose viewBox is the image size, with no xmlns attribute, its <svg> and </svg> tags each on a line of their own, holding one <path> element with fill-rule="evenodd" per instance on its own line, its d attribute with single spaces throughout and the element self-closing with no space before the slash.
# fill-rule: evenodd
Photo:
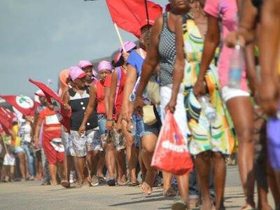
<svg viewBox="0 0 280 210">
<path fill-rule="evenodd" d="M 0 95 L 8 104 L 18 109 L 25 116 L 34 116 L 34 101 L 24 95 Z"/>
</svg>

